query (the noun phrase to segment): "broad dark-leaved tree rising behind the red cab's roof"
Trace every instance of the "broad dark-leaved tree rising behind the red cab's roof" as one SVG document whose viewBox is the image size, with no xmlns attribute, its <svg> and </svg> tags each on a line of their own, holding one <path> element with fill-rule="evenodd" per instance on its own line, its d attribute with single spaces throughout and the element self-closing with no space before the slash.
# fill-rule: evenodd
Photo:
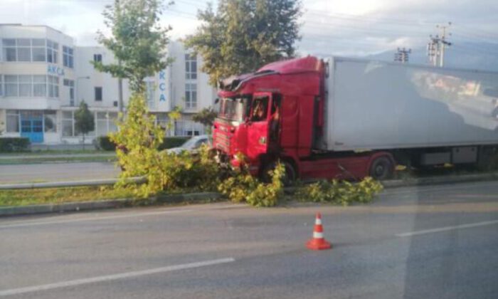
<svg viewBox="0 0 498 299">
<path fill-rule="evenodd" d="M 301 15 L 300 0 L 220 0 L 216 12 L 211 5 L 198 11 L 202 25 L 185 44 L 202 56 L 202 70 L 216 85 L 295 56 Z"/>
</svg>

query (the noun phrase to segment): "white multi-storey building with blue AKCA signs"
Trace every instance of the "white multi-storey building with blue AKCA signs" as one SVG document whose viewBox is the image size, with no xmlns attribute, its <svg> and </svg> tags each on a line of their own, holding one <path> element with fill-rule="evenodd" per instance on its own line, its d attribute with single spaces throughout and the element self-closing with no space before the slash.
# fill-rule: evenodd
<svg viewBox="0 0 498 299">
<path fill-rule="evenodd" d="M 5 137 L 28 137 L 33 143 L 79 143 L 74 111 L 82 100 L 95 115 L 92 137 L 117 130 L 118 80 L 90 63 L 113 61 L 102 47 L 79 47 L 73 38 L 48 26 L 0 24 L 0 132 Z M 216 90 L 201 61 L 181 43 L 171 42 L 167 55 L 174 63 L 146 79 L 149 110 L 166 127 L 168 112 L 181 107 L 182 117 L 169 135 L 199 135 L 203 126 L 191 115 L 213 105 Z M 129 98 L 123 80 L 123 100 Z"/>
</svg>

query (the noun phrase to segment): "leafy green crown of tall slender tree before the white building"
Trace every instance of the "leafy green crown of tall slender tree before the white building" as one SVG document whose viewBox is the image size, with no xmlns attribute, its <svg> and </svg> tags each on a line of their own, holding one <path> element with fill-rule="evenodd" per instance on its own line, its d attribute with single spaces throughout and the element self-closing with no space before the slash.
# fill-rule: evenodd
<svg viewBox="0 0 498 299">
<path fill-rule="evenodd" d="M 167 36 L 171 27 L 159 24 L 162 7 L 159 0 L 115 0 L 102 13 L 112 35 L 98 32 L 98 41 L 115 56 L 116 63 L 91 61 L 97 70 L 116 78 L 129 79 L 134 93 L 145 90 L 144 78 L 166 68 Z"/>
</svg>

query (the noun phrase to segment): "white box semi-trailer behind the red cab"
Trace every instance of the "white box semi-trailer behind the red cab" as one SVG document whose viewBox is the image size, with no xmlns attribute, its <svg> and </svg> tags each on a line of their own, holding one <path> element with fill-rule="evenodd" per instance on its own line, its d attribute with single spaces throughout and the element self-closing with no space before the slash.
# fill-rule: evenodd
<svg viewBox="0 0 498 299">
<path fill-rule="evenodd" d="M 477 162 L 480 147 L 498 144 L 498 73 L 324 61 L 326 133 L 317 143 L 322 150 L 415 150 L 419 164 L 442 164 Z"/>
</svg>

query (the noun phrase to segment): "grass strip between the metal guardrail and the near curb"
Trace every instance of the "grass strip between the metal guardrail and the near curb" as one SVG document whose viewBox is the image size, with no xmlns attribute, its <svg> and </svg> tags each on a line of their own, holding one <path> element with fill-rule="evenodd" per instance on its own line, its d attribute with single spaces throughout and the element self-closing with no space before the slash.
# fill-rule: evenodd
<svg viewBox="0 0 498 299">
<path fill-rule="evenodd" d="M 134 195 L 127 189 L 115 189 L 112 186 L 15 189 L 0 191 L 0 206 L 62 204 L 74 201 L 100 201 L 122 198 L 134 199 Z"/>
</svg>

